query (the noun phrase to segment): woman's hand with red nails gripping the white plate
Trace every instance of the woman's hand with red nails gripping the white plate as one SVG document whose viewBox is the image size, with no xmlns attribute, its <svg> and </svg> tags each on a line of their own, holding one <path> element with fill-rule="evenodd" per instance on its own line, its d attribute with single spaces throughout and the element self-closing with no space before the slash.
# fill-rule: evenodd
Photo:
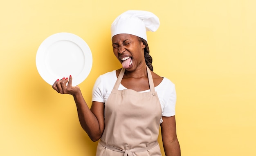
<svg viewBox="0 0 256 156">
<path fill-rule="evenodd" d="M 80 92 L 79 86 L 72 86 L 71 75 L 69 78 L 62 78 L 61 80 L 56 80 L 52 85 L 52 88 L 60 94 L 71 94 L 72 96 L 75 96 Z"/>
</svg>

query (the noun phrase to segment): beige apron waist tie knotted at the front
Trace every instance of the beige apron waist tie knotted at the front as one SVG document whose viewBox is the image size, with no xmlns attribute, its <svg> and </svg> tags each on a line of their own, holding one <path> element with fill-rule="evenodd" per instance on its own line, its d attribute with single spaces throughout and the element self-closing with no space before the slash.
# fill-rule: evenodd
<svg viewBox="0 0 256 156">
<path fill-rule="evenodd" d="M 135 153 L 135 152 L 146 152 L 146 151 L 148 151 L 149 149 L 152 149 L 153 147 L 155 147 L 156 145 L 158 145 L 158 142 L 156 141 L 156 142 L 152 143 L 151 145 L 149 145 L 148 147 L 123 150 L 123 149 L 118 149 L 118 148 L 116 148 L 116 147 L 107 145 L 107 144 L 104 143 L 102 140 L 100 140 L 99 143 L 100 143 L 103 147 L 106 147 L 107 149 L 111 149 L 112 151 L 124 152 L 124 156 L 133 156 L 133 153 Z"/>
</svg>

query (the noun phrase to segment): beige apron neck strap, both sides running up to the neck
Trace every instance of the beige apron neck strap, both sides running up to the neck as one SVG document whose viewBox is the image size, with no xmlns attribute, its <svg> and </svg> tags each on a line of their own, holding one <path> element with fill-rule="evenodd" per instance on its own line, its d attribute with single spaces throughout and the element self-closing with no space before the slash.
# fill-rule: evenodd
<svg viewBox="0 0 256 156">
<path fill-rule="evenodd" d="M 117 78 L 117 81 L 115 83 L 114 89 L 118 90 L 118 87 L 119 87 L 119 85 L 120 85 L 120 83 L 121 83 L 121 81 L 124 77 L 124 72 L 125 72 L 125 69 L 122 68 L 121 71 L 120 71 L 120 74 Z M 148 82 L 149 82 L 150 91 L 155 92 L 153 78 L 152 78 L 152 75 L 151 75 L 151 72 L 150 72 L 150 69 L 148 68 L 148 66 L 147 66 L 147 73 L 148 73 Z"/>
</svg>

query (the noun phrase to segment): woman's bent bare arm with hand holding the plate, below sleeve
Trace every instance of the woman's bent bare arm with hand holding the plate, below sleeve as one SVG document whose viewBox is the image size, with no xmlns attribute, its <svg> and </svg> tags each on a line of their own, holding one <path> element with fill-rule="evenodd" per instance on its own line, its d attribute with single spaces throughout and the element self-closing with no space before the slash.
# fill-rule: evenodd
<svg viewBox="0 0 256 156">
<path fill-rule="evenodd" d="M 80 88 L 78 86 L 72 86 L 72 76 L 70 76 L 70 80 L 66 85 L 67 81 L 68 78 L 56 80 L 52 87 L 58 93 L 71 94 L 74 97 L 82 128 L 92 141 L 99 140 L 104 130 L 104 103 L 92 102 L 92 107 L 89 109 Z"/>
</svg>

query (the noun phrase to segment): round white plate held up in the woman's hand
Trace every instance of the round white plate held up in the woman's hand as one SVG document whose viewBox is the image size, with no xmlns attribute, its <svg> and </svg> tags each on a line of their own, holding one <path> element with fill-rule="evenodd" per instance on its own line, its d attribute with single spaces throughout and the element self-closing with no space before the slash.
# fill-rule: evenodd
<svg viewBox="0 0 256 156">
<path fill-rule="evenodd" d="M 36 53 L 36 67 L 50 85 L 72 75 L 79 85 L 92 69 L 92 53 L 87 43 L 72 33 L 56 33 L 46 38 Z"/>
</svg>

